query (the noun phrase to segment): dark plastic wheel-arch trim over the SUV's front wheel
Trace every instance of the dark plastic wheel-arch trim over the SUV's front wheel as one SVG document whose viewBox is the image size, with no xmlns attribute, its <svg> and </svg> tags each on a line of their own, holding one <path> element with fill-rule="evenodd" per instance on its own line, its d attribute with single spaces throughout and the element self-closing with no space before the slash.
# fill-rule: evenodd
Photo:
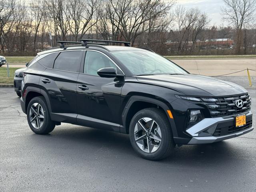
<svg viewBox="0 0 256 192">
<path fill-rule="evenodd" d="M 120 127 L 120 132 L 121 133 L 128 133 L 126 131 L 126 128 L 125 128 L 125 125 L 126 125 L 126 116 L 128 114 L 128 111 L 130 110 L 130 107 L 132 106 L 132 104 L 136 101 L 142 101 L 142 102 L 149 102 L 149 103 L 152 103 L 152 104 L 156 104 L 158 106 L 160 106 L 169 122 L 170 122 L 170 125 L 171 125 L 171 128 L 172 128 L 172 134 L 174 137 L 178 136 L 178 133 L 177 133 L 177 130 L 176 130 L 176 125 L 175 125 L 175 122 L 173 119 L 169 118 L 169 115 L 167 113 L 167 110 L 171 110 L 172 111 L 172 106 L 167 106 L 167 104 L 165 104 L 164 102 L 160 101 L 160 100 L 157 100 L 157 99 L 154 99 L 154 98 L 148 98 L 148 97 L 144 97 L 144 96 L 131 96 L 130 99 L 127 101 L 126 103 L 126 106 L 124 107 L 124 110 L 122 112 L 122 122 L 123 122 L 123 126 Z M 129 128 L 128 128 L 129 129 Z"/>
</svg>

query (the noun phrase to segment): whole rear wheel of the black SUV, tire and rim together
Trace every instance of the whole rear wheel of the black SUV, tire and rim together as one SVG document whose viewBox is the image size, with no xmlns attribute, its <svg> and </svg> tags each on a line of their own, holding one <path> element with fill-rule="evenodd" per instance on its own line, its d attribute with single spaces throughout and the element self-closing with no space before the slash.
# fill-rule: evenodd
<svg viewBox="0 0 256 192">
<path fill-rule="evenodd" d="M 38 113 L 39 109 L 39 113 Z M 48 106 L 44 97 L 35 97 L 28 104 L 27 120 L 30 129 L 36 134 L 47 134 L 55 128 L 51 120 Z"/>
</svg>

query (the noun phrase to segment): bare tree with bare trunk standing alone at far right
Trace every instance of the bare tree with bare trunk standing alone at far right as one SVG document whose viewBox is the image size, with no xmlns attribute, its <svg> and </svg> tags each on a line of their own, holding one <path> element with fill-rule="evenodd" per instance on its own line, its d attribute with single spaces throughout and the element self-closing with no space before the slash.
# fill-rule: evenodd
<svg viewBox="0 0 256 192">
<path fill-rule="evenodd" d="M 223 0 L 223 19 L 236 28 L 236 54 L 241 54 L 242 28 L 255 20 L 255 0 Z"/>
</svg>

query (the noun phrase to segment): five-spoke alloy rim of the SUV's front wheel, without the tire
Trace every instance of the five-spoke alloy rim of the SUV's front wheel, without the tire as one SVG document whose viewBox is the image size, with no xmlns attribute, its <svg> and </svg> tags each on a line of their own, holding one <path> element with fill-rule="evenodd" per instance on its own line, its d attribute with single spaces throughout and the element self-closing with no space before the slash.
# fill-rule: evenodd
<svg viewBox="0 0 256 192">
<path fill-rule="evenodd" d="M 134 138 L 138 147 L 147 153 L 153 153 L 160 147 L 162 133 L 152 118 L 141 118 L 135 124 Z"/>
</svg>

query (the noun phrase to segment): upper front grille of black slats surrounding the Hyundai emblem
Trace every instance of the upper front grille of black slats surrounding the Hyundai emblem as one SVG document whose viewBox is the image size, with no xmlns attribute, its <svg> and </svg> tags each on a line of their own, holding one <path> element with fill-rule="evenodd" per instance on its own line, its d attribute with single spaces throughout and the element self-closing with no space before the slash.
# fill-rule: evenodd
<svg viewBox="0 0 256 192">
<path fill-rule="evenodd" d="M 212 117 L 222 117 L 241 114 L 251 109 L 251 98 L 249 94 L 241 94 L 236 96 L 218 97 L 215 102 L 204 102 Z M 238 108 L 236 101 L 241 99 L 243 106 Z"/>
</svg>

